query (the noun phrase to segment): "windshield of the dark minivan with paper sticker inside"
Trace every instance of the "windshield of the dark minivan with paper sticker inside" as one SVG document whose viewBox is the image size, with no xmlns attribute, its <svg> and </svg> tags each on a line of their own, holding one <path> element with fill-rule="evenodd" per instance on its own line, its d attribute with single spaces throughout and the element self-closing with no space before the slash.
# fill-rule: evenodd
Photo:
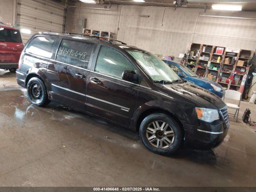
<svg viewBox="0 0 256 192">
<path fill-rule="evenodd" d="M 150 52 L 134 49 L 126 49 L 126 51 L 142 66 L 154 82 L 171 83 L 181 80 L 166 63 Z"/>
</svg>

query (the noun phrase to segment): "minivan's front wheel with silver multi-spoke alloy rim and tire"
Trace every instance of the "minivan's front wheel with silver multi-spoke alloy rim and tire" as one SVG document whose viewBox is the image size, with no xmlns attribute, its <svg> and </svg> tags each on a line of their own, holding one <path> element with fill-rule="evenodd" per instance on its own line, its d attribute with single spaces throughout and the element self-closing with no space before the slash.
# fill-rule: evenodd
<svg viewBox="0 0 256 192">
<path fill-rule="evenodd" d="M 182 135 L 178 123 L 163 113 L 150 114 L 140 124 L 140 139 L 148 150 L 156 154 L 176 152 L 182 143 Z"/>
</svg>

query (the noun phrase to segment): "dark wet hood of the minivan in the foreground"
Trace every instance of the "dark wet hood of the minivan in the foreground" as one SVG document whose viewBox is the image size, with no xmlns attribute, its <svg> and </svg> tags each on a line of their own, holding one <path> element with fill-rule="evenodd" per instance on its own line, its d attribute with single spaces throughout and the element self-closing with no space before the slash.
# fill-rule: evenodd
<svg viewBox="0 0 256 192">
<path fill-rule="evenodd" d="M 180 100 L 186 100 L 186 102 L 194 102 L 198 107 L 220 110 L 226 106 L 226 104 L 212 92 L 191 83 L 165 84 L 162 88 L 163 92 L 166 94 L 172 96 L 176 94 L 174 97 L 180 97 Z"/>
</svg>

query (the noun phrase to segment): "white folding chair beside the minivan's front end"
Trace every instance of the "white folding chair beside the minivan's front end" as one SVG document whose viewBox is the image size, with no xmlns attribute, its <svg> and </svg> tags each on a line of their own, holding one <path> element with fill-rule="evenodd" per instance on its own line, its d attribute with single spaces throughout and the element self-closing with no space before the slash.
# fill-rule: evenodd
<svg viewBox="0 0 256 192">
<path fill-rule="evenodd" d="M 224 95 L 224 99 L 223 99 L 224 102 L 225 102 L 225 98 L 239 101 L 238 105 L 237 104 L 232 104 L 232 103 L 226 103 L 228 108 L 232 108 L 232 109 L 236 110 L 235 114 L 229 113 L 229 115 L 232 115 L 232 116 L 234 115 L 234 118 L 236 117 L 236 122 L 237 122 L 238 112 L 239 112 L 239 108 L 240 108 L 240 102 L 242 100 L 242 94 L 239 91 L 226 90 L 225 95 Z"/>
</svg>

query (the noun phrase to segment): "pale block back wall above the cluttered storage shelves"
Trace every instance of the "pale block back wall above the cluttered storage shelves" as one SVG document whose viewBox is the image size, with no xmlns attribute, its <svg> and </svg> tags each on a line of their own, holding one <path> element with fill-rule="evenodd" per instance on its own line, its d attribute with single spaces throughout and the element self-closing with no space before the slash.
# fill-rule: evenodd
<svg viewBox="0 0 256 192">
<path fill-rule="evenodd" d="M 175 57 L 186 52 L 191 42 L 255 50 L 256 20 L 198 17 L 199 14 L 256 18 L 256 12 L 204 12 L 202 9 L 113 5 L 110 11 L 75 8 L 72 19 L 74 25 L 79 17 L 86 18 L 87 28 L 109 30 L 117 33 L 118 40 Z"/>
</svg>

